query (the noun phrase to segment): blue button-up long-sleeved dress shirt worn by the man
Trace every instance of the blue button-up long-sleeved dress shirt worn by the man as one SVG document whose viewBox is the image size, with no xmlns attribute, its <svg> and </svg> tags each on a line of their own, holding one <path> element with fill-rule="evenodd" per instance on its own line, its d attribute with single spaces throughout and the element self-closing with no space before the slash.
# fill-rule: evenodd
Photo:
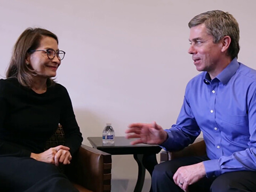
<svg viewBox="0 0 256 192">
<path fill-rule="evenodd" d="M 165 131 L 165 150 L 182 149 L 203 132 L 208 178 L 256 171 L 256 70 L 234 59 L 212 80 L 206 72 L 191 79 L 177 123 Z"/>
</svg>

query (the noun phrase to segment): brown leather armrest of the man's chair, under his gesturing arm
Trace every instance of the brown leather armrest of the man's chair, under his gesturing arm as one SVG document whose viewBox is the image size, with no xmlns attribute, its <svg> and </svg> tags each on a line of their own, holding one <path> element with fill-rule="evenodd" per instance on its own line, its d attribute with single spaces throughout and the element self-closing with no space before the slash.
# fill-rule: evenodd
<svg viewBox="0 0 256 192">
<path fill-rule="evenodd" d="M 162 154 L 163 153 L 163 154 Z M 180 157 L 202 156 L 206 154 L 206 147 L 203 138 L 197 138 L 194 143 L 179 151 L 161 151 L 160 162 Z M 163 157 L 163 158 L 162 158 Z"/>
</svg>

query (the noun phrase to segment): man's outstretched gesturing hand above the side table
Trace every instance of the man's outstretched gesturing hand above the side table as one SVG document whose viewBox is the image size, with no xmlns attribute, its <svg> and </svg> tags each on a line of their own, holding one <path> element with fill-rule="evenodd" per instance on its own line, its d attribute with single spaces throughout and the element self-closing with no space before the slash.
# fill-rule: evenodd
<svg viewBox="0 0 256 192">
<path fill-rule="evenodd" d="M 160 125 L 157 125 L 156 122 L 151 124 L 133 123 L 128 127 L 129 129 L 125 131 L 125 133 L 127 133 L 126 138 L 139 138 L 135 141 L 132 141 L 132 145 L 138 143 L 159 145 L 167 139 L 167 133 L 163 130 L 163 128 Z"/>
</svg>

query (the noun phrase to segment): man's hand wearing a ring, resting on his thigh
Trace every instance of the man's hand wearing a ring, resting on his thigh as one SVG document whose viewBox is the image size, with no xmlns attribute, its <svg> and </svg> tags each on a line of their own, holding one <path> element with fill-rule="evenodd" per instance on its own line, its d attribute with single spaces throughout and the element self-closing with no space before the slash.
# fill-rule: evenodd
<svg viewBox="0 0 256 192">
<path fill-rule="evenodd" d="M 188 186 L 205 177 L 205 167 L 203 162 L 194 165 L 182 166 L 173 175 L 173 181 L 181 189 L 188 192 Z"/>
</svg>

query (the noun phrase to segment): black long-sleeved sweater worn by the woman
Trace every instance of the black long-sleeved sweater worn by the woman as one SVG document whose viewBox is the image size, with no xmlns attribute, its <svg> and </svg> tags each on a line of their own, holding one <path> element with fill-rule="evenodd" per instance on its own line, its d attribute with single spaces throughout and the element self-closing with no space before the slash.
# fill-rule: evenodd
<svg viewBox="0 0 256 192">
<path fill-rule="evenodd" d="M 42 153 L 58 123 L 73 155 L 83 138 L 66 88 L 56 83 L 37 94 L 17 78 L 0 79 L 0 157 Z"/>
</svg>

